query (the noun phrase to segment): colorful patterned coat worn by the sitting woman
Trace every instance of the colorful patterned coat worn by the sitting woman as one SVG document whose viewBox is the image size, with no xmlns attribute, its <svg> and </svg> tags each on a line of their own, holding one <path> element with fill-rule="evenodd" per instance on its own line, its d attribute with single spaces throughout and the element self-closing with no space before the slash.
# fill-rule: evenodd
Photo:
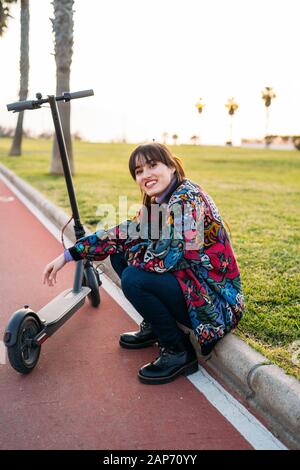
<svg viewBox="0 0 300 470">
<path fill-rule="evenodd" d="M 176 222 L 172 217 L 175 205 L 177 209 L 178 206 L 182 209 L 189 207 L 194 219 L 193 227 L 188 227 L 181 239 L 175 235 L 178 229 L 178 218 Z M 196 227 L 196 209 L 199 207 L 204 223 L 204 239 L 193 249 L 190 241 Z M 128 220 L 113 229 L 80 239 L 70 249 L 70 253 L 75 260 L 85 257 L 103 260 L 113 253 L 123 252 L 128 264 L 138 269 L 156 272 L 158 275 L 171 272 L 181 286 L 194 333 L 205 353 L 235 328 L 243 315 L 244 301 L 238 265 L 213 200 L 197 184 L 185 179 L 172 193 L 167 208 L 170 214 L 170 238 L 167 240 L 133 239 L 128 236 L 127 230 L 131 224 L 140 228 L 139 214 L 134 220 Z"/>
</svg>

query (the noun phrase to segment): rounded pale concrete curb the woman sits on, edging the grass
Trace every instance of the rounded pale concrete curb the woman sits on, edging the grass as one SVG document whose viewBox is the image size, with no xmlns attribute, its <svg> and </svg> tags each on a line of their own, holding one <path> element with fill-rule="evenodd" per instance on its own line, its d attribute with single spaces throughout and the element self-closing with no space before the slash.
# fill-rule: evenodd
<svg viewBox="0 0 300 470">
<path fill-rule="evenodd" d="M 69 220 L 69 216 L 62 209 L 2 164 L 1 173 L 59 229 Z M 88 229 L 86 233 L 90 233 Z M 74 241 L 71 224 L 66 228 L 65 234 Z M 120 286 L 119 278 L 109 260 L 105 260 L 102 265 L 105 274 Z M 203 363 L 203 356 L 193 334 L 191 341 L 199 356 L 199 362 Z M 206 360 L 206 365 L 258 411 L 273 434 L 288 448 L 300 449 L 298 380 L 285 374 L 282 369 L 234 334 L 228 334 L 216 346 Z"/>
</svg>

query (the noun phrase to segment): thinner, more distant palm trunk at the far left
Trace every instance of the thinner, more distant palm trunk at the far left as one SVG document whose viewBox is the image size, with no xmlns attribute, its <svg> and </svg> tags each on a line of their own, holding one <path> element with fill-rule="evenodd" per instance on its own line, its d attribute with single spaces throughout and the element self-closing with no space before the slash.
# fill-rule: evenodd
<svg viewBox="0 0 300 470">
<path fill-rule="evenodd" d="M 26 100 L 29 81 L 29 0 L 21 0 L 21 51 L 20 51 L 20 93 L 19 99 Z M 18 114 L 17 127 L 9 155 L 22 154 L 24 111 Z"/>
</svg>

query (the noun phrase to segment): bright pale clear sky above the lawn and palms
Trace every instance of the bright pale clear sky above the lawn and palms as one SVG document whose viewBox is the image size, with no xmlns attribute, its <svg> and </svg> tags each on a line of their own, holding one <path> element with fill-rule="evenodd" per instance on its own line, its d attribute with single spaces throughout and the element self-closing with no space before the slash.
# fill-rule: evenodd
<svg viewBox="0 0 300 470">
<path fill-rule="evenodd" d="M 30 92 L 55 93 L 49 0 L 30 0 Z M 261 138 L 261 91 L 277 94 L 270 133 L 300 134 L 299 0 L 75 0 L 71 91 L 95 96 L 72 103 L 72 131 L 93 141 L 162 139 L 193 134 L 228 138 L 225 103 L 239 104 L 233 142 Z M 0 39 L 0 126 L 14 126 L 6 103 L 18 99 L 19 7 Z M 195 103 L 206 104 L 201 115 Z M 52 129 L 49 109 L 27 111 L 24 127 Z"/>
</svg>

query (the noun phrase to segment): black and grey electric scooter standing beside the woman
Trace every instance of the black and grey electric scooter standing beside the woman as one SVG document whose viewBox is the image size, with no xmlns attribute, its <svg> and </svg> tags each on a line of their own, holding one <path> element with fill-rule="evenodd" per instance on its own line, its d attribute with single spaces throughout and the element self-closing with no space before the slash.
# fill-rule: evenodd
<svg viewBox="0 0 300 470">
<path fill-rule="evenodd" d="M 69 158 L 65 145 L 60 114 L 57 101 L 68 102 L 75 98 L 84 98 L 94 95 L 93 90 L 65 92 L 62 96 L 48 95 L 42 98 L 36 94 L 36 100 L 17 101 L 7 105 L 8 111 L 20 112 L 25 109 L 38 109 L 49 103 L 55 128 L 63 172 L 74 219 L 74 233 L 76 240 L 84 237 L 85 230 L 81 224 L 77 200 L 72 182 Z M 93 307 L 100 303 L 99 287 L 101 285 L 98 270 L 90 260 L 80 260 L 76 263 L 73 287 L 63 291 L 38 312 L 34 312 L 28 305 L 17 310 L 9 320 L 4 333 L 4 344 L 7 347 L 11 366 L 22 374 L 28 374 L 36 366 L 41 345 L 52 336 L 71 316 L 84 304 L 88 296 Z"/>
</svg>

